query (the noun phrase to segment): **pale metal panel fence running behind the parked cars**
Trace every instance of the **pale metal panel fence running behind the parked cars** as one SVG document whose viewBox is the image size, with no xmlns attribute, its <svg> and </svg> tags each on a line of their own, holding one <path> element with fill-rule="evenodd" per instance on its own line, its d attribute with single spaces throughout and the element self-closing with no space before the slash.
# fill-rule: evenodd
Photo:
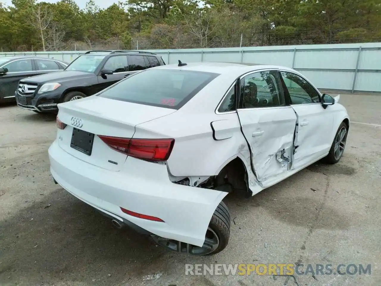
<svg viewBox="0 0 381 286">
<path fill-rule="evenodd" d="M 201 61 L 275 64 L 293 67 L 318 88 L 381 92 L 381 43 L 296 45 L 243 48 L 149 50 L 166 64 Z M 70 63 L 85 51 L 0 53 L 37 55 Z"/>
</svg>

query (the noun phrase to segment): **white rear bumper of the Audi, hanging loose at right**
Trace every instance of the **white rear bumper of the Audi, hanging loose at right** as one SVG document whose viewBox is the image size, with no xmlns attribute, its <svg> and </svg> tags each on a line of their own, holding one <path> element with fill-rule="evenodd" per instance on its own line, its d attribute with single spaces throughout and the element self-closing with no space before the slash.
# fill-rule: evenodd
<svg viewBox="0 0 381 286">
<path fill-rule="evenodd" d="M 166 165 L 128 157 L 120 171 L 83 162 L 58 146 L 49 148 L 54 180 L 69 193 L 120 221 L 163 238 L 202 246 L 211 216 L 227 193 L 172 183 Z M 162 219 L 156 222 L 120 207 Z"/>
</svg>

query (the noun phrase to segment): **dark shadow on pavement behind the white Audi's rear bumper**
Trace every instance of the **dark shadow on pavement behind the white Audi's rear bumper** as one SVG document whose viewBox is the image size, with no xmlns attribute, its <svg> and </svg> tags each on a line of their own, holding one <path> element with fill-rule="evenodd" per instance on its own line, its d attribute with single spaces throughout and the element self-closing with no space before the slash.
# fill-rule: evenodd
<svg viewBox="0 0 381 286">
<path fill-rule="evenodd" d="M 141 265 L 166 253 L 147 236 L 115 229 L 110 219 L 61 188 L 2 220 L 0 245 L 0 281 L 28 285 L 104 279 L 114 285 L 127 273 L 143 274 Z"/>
</svg>

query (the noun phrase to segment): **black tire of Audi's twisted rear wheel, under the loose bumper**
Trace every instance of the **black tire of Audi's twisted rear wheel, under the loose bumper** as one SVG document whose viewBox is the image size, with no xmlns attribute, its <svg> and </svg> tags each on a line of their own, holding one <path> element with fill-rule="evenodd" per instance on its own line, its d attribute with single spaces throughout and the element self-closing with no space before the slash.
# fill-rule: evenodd
<svg viewBox="0 0 381 286">
<path fill-rule="evenodd" d="M 230 236 L 230 212 L 224 202 L 220 202 L 217 206 L 214 214 L 209 223 L 209 228 L 211 228 L 219 239 L 219 245 L 215 251 L 210 252 L 206 255 L 214 255 L 225 249 L 229 243 Z"/>
</svg>

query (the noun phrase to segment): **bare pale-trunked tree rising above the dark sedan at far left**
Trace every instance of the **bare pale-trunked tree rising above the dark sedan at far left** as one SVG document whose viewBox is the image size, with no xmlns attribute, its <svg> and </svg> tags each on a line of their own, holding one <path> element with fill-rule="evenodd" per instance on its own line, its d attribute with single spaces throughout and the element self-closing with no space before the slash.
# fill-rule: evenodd
<svg viewBox="0 0 381 286">
<path fill-rule="evenodd" d="M 42 48 L 45 49 L 45 30 L 48 28 L 51 19 L 53 18 L 53 13 L 48 10 L 48 7 L 43 6 L 42 3 L 30 5 L 30 25 L 40 32 Z"/>
</svg>

